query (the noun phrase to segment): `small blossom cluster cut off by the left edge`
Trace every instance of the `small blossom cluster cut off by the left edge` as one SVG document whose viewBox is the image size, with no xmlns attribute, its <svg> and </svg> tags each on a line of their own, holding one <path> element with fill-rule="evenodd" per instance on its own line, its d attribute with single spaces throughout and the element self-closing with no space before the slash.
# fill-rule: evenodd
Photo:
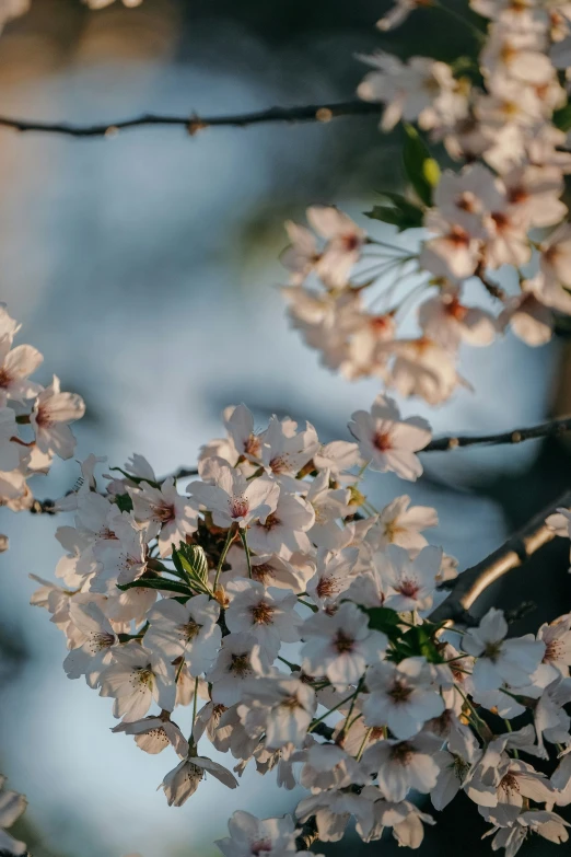
<svg viewBox="0 0 571 857">
<path fill-rule="evenodd" d="M 14 346 L 20 327 L 0 304 L 0 505 L 40 511 L 27 479 L 47 473 L 54 456 L 72 456 L 69 424 L 85 406 L 81 396 L 61 392 L 56 375 L 47 387 L 30 380 L 44 358 L 31 345 Z M 0 536 L 0 549 L 7 547 L 7 536 Z"/>
</svg>

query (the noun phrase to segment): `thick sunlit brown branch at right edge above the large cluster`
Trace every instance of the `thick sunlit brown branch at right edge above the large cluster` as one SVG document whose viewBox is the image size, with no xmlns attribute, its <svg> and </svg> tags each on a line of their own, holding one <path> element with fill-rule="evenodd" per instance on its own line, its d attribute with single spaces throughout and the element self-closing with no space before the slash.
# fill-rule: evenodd
<svg viewBox="0 0 571 857">
<path fill-rule="evenodd" d="M 558 497 L 525 526 L 508 538 L 501 547 L 471 568 L 466 569 L 452 583 L 447 599 L 431 614 L 431 622 L 458 622 L 474 625 L 475 619 L 468 613 L 482 592 L 508 571 L 518 568 L 545 544 L 555 537 L 555 532 L 545 520 L 559 508 L 571 507 L 571 491 Z"/>
</svg>

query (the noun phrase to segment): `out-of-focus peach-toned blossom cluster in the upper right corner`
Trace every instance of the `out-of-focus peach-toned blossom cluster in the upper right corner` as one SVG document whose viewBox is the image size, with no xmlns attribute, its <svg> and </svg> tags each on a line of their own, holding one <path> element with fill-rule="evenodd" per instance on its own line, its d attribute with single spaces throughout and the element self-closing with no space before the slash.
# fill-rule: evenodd
<svg viewBox="0 0 571 857">
<path fill-rule="evenodd" d="M 334 207 L 314 206 L 311 229 L 287 224 L 291 245 L 282 256 L 290 319 L 327 367 L 349 379 L 378 377 L 433 405 L 463 383 L 463 343 L 487 346 L 511 328 L 538 346 L 550 339 L 558 314 L 571 314 L 571 227 L 561 199 L 571 153 L 559 127 L 568 126 L 569 108 L 558 73 L 571 60 L 569 8 L 470 4 L 489 19 L 487 33 L 477 31 L 478 58 L 451 66 L 383 53 L 363 58 L 373 70 L 359 95 L 385 105 L 383 129 L 405 123 L 412 187 L 409 197 L 383 194 L 387 204 L 369 217 L 415 230 L 406 246 L 376 240 Z M 430 3 L 398 0 L 380 27 L 417 5 Z M 464 165 L 441 174 L 409 123 Z M 505 289 L 493 280 L 501 268 Z M 497 313 L 466 303 L 471 280 L 498 302 Z M 399 336 L 411 303 L 418 335 Z"/>
</svg>

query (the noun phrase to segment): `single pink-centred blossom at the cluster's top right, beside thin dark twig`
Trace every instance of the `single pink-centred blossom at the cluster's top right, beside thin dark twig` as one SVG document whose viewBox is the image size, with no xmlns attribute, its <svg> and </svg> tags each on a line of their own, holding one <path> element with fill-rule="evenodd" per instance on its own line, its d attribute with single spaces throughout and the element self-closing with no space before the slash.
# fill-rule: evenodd
<svg viewBox="0 0 571 857">
<path fill-rule="evenodd" d="M 359 441 L 361 455 L 371 470 L 381 473 L 394 471 L 397 476 L 411 482 L 422 474 L 422 465 L 415 452 L 423 449 L 432 438 L 424 419 L 400 419 L 394 399 L 378 395 L 371 413 L 356 410 L 351 420 L 349 429 Z"/>
</svg>

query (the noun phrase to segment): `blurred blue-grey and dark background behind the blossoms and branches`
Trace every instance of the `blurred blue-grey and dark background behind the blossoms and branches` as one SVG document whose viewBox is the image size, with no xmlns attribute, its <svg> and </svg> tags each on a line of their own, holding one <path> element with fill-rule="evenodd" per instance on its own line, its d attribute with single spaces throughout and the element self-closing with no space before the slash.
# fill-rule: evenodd
<svg viewBox="0 0 571 857">
<path fill-rule="evenodd" d="M 364 71 L 358 53 L 446 59 L 463 39 L 474 49 L 469 33 L 436 12 L 381 35 L 374 22 L 386 5 L 144 0 L 91 12 L 79 0 L 33 0 L 0 37 L 0 114 L 113 123 L 145 111 L 212 115 L 348 100 Z M 374 117 L 195 138 L 177 128 L 92 140 L 0 129 L 0 297 L 24 325 L 19 341 L 46 356 L 37 380 L 56 372 L 88 403 L 78 458 L 94 452 L 121 464 L 135 451 L 158 473 L 189 465 L 222 433 L 221 409 L 238 402 L 260 426 L 271 413 L 289 414 L 311 420 L 324 440 L 347 437 L 349 415 L 368 408 L 378 386 L 331 375 L 288 329 L 277 288 L 282 221 L 331 201 L 360 219 L 375 189 L 398 189 L 399 139 L 382 136 Z M 373 224 L 380 238 L 383 229 Z M 438 435 L 571 412 L 564 340 L 534 350 L 509 335 L 465 349 L 462 371 L 475 393 L 461 391 L 435 412 L 409 402 L 405 414 L 428 416 Z M 569 487 L 571 470 L 562 441 L 436 453 L 424 464 L 416 485 L 370 479 L 370 497 L 380 506 L 409 493 L 435 506 L 432 541 L 461 568 Z M 59 463 L 33 488 L 57 497 L 77 475 L 73 462 Z M 28 606 L 27 575 L 51 578 L 60 556 L 57 522 L 5 510 L 1 518 L 11 549 L 0 559 L 0 769 L 27 795 L 14 833 L 35 857 L 209 857 L 235 809 L 291 811 L 300 795 L 252 771 L 235 791 L 209 779 L 182 809 L 166 807 L 155 788 L 174 754 L 149 756 L 110 733 L 109 700 L 66 678 L 62 636 Z M 536 602 L 516 633 L 571 607 L 568 548 L 553 543 L 488 593 L 505 607 Z M 486 606 L 482 599 L 478 610 Z M 474 807 L 457 799 L 442 815 L 424 854 L 457 854 L 461 836 L 463 854 L 488 853 Z M 534 845 L 527 853 L 555 853 Z M 348 847 L 396 853 L 392 839 L 318 850 Z"/>
</svg>

